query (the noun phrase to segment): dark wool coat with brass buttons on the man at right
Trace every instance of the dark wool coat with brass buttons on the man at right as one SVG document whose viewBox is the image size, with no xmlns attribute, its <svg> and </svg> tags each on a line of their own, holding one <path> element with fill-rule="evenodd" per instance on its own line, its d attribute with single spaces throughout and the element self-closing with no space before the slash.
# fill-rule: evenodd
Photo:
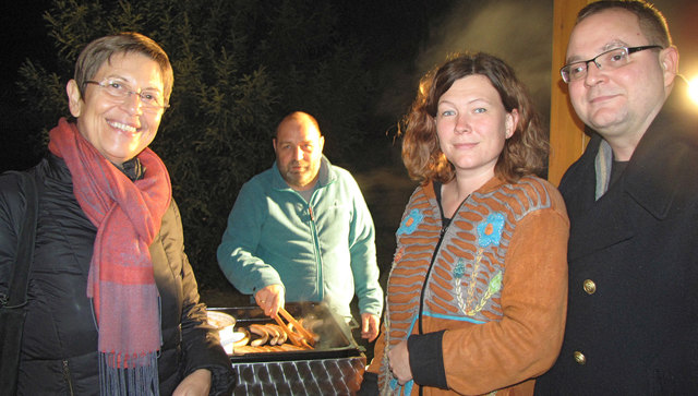
<svg viewBox="0 0 698 396">
<path fill-rule="evenodd" d="M 539 395 L 698 394 L 698 108 L 685 85 L 598 201 L 599 135 L 561 182 L 567 327 Z"/>
</svg>

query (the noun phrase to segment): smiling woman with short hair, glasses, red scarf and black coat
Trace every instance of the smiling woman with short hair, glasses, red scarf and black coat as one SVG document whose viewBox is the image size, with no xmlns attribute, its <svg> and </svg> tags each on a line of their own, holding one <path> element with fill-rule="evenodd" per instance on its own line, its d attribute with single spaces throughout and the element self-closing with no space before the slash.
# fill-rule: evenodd
<svg viewBox="0 0 698 396">
<path fill-rule="evenodd" d="M 206 324 L 165 164 L 148 147 L 172 92 L 152 39 L 92 41 L 68 83 L 71 120 L 31 169 L 39 215 L 17 393 L 229 394 L 230 361 Z M 26 200 L 0 178 L 0 292 Z"/>
</svg>

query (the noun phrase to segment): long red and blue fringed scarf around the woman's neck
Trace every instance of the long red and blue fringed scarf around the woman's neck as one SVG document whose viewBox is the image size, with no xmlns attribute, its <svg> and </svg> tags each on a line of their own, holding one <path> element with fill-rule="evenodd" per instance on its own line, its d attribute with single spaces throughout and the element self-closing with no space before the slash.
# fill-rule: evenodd
<svg viewBox="0 0 698 396">
<path fill-rule="evenodd" d="M 49 149 L 63 158 L 81 208 L 97 227 L 87 297 L 99 332 L 103 395 L 157 395 L 161 345 L 159 296 L 148 247 L 170 205 L 165 164 L 149 148 L 147 169 L 131 181 L 65 119 L 50 132 Z"/>
</svg>

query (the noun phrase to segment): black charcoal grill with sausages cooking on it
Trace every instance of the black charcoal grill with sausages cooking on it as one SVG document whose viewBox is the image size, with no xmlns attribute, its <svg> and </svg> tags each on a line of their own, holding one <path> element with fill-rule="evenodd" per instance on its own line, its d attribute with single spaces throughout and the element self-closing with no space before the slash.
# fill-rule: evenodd
<svg viewBox="0 0 698 396">
<path fill-rule="evenodd" d="M 236 327 L 275 323 L 258 307 L 209 308 L 236 317 Z M 325 303 L 286 303 L 296 319 L 314 317 L 320 335 L 311 350 L 232 355 L 233 395 L 352 395 L 363 380 L 366 357 L 344 319 Z"/>
</svg>

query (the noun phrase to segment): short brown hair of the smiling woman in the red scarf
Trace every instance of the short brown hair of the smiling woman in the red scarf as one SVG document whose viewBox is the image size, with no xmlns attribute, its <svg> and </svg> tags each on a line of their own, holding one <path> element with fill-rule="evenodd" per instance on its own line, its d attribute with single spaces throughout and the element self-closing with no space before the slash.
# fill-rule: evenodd
<svg viewBox="0 0 698 396">
<path fill-rule="evenodd" d="M 153 59 L 163 72 L 165 100 L 169 101 L 172 93 L 174 75 L 172 65 L 165 50 L 153 39 L 133 32 L 119 33 L 112 36 L 97 38 L 89 43 L 77 57 L 75 62 L 75 82 L 81 94 L 85 92 L 85 82 L 92 80 L 105 62 L 109 62 L 117 53 L 141 53 Z"/>
</svg>

